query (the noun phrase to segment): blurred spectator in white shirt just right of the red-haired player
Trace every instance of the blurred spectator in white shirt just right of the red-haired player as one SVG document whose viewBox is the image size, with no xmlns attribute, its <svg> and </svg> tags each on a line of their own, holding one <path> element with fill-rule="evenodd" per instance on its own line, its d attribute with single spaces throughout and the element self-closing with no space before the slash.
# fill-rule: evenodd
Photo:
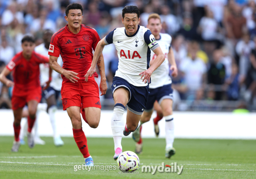
<svg viewBox="0 0 256 179">
<path fill-rule="evenodd" d="M 196 57 L 196 50 L 190 48 L 191 57 L 187 57 L 180 63 L 180 72 L 184 75 L 184 83 L 188 88 L 188 95 L 195 95 L 196 90 L 206 83 L 206 65 L 202 59 Z"/>
</svg>

